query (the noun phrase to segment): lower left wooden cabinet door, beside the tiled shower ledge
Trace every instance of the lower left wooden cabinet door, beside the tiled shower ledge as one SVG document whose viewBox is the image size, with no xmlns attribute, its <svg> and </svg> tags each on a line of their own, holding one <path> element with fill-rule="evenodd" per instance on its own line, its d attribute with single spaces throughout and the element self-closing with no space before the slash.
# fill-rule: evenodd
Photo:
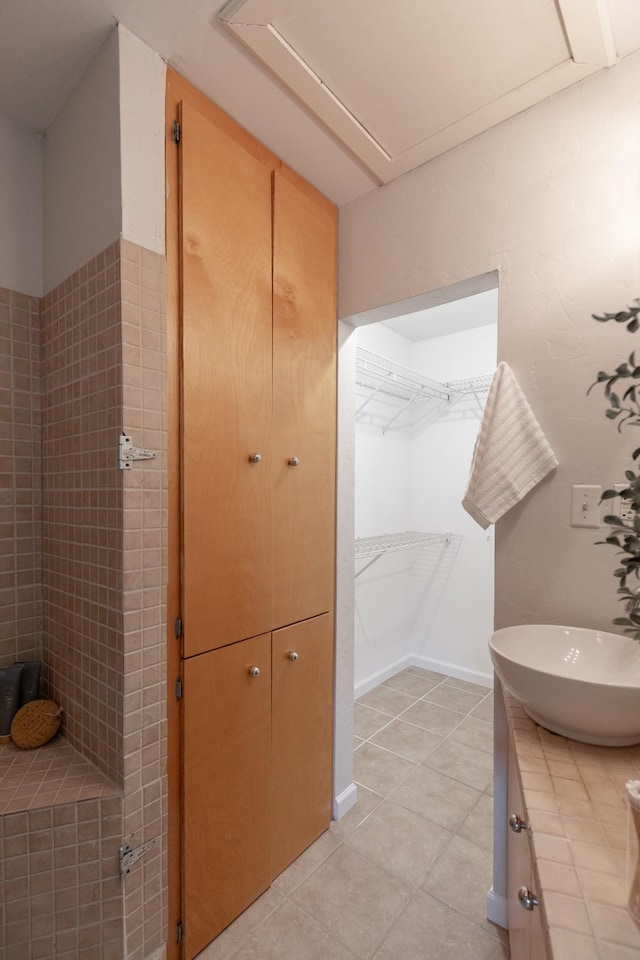
<svg viewBox="0 0 640 960">
<path fill-rule="evenodd" d="M 259 670 L 252 676 L 252 670 Z M 184 664 L 183 921 L 191 960 L 271 881 L 271 637 Z"/>
</svg>

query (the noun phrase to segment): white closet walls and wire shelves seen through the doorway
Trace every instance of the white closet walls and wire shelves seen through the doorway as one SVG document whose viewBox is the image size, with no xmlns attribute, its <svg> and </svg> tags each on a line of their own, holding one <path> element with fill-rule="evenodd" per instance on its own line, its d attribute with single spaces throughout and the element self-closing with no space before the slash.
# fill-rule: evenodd
<svg viewBox="0 0 640 960">
<path fill-rule="evenodd" d="M 340 323 L 338 811 L 354 692 L 409 665 L 492 683 L 494 532 L 461 501 L 497 322 L 488 274 Z"/>
</svg>

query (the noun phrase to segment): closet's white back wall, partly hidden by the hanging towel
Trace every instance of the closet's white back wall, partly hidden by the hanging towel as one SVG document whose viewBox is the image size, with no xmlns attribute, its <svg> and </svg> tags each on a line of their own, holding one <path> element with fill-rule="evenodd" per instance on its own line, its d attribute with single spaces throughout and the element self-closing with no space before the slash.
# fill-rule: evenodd
<svg viewBox="0 0 640 960">
<path fill-rule="evenodd" d="M 496 317 L 497 319 L 497 317 Z M 495 324 L 414 345 L 412 367 L 439 381 L 492 374 Z M 437 567 L 425 557 L 414 567 L 414 591 L 423 596 L 413 631 L 417 656 L 431 669 L 478 674 L 491 682 L 487 641 L 494 621 L 494 536 L 462 508 L 481 409 L 466 397 L 441 408 L 412 446 L 411 512 L 417 530 L 450 531 L 455 538 Z M 424 583 L 433 581 L 428 591 Z M 421 593 L 422 591 L 422 593 Z M 472 677 L 469 677 L 472 679 Z"/>
</svg>

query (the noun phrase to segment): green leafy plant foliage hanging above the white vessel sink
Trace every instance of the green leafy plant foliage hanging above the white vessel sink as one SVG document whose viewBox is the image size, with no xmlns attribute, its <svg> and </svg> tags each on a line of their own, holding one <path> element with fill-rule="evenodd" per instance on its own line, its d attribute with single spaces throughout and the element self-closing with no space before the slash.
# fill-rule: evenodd
<svg viewBox="0 0 640 960">
<path fill-rule="evenodd" d="M 607 323 L 626 325 L 629 333 L 635 333 L 640 327 L 640 300 L 633 306 L 618 313 L 605 313 L 602 316 L 592 314 L 594 320 Z M 616 367 L 613 373 L 600 370 L 594 383 L 587 393 L 598 384 L 604 388 L 604 395 L 609 406 L 605 416 L 609 420 L 617 421 L 618 430 L 623 426 L 640 426 L 640 363 L 636 362 L 635 351 L 627 360 Z M 624 633 L 640 640 L 640 447 L 631 454 L 634 469 L 625 471 L 626 486 L 621 490 L 605 490 L 603 500 L 623 498 L 628 503 L 623 519 L 616 514 L 604 517 L 604 523 L 609 527 L 609 534 L 599 543 L 608 543 L 617 547 L 622 556 L 620 566 L 614 571 L 614 577 L 619 581 L 617 593 L 619 599 L 625 603 L 627 616 L 616 617 L 613 621 L 617 626 L 624 627 Z M 618 502 L 621 502 L 620 500 Z M 637 581 L 637 583 L 636 583 Z"/>
</svg>

